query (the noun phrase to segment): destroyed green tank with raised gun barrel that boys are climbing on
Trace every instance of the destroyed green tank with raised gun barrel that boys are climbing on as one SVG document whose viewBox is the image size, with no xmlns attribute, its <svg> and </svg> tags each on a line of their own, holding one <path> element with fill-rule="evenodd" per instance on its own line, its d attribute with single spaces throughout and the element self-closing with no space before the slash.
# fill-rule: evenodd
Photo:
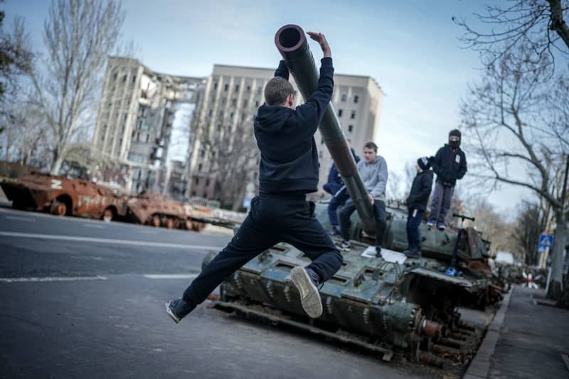
<svg viewBox="0 0 569 379">
<path fill-rule="evenodd" d="M 304 31 L 283 26 L 275 44 L 306 99 L 317 87 L 318 73 Z M 332 105 L 319 130 L 357 210 L 351 230 L 356 240 L 344 253 L 339 272 L 320 289 L 322 316 L 309 319 L 302 309 L 289 274 L 293 267 L 306 266 L 309 259 L 287 243 L 262 252 L 225 279 L 215 306 L 352 343 L 380 353 L 385 361 L 394 351 L 403 351 L 413 361 L 437 366 L 446 361 L 465 363 L 480 333 L 460 321 L 457 306 L 462 297 L 476 297 L 489 285 L 484 275 L 462 264 L 484 255 L 479 235 L 472 230 L 460 237 L 450 232 L 433 234 L 423 244 L 425 252 L 431 252 L 428 256 L 408 258 L 400 252 L 407 247 L 405 212 L 388 208 L 386 248 L 383 257 L 376 258 L 375 247 L 366 243 L 375 230 L 373 208 Z M 325 207 L 319 203 L 315 211 L 324 225 Z M 421 232 L 426 232 L 424 225 Z M 206 256 L 203 265 L 214 256 Z M 454 275 L 448 272 L 451 263 Z"/>
</svg>

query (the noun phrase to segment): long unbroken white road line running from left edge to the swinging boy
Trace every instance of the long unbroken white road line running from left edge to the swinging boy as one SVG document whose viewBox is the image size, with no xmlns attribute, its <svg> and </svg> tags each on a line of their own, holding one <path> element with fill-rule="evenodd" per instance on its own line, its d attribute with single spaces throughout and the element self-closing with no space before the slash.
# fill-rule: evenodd
<svg viewBox="0 0 569 379">
<path fill-rule="evenodd" d="M 107 243 L 107 244 L 112 244 L 112 245 L 134 245 L 134 246 L 147 246 L 147 247 L 172 247 L 174 249 L 185 249 L 185 250 L 207 250 L 207 251 L 202 252 L 203 254 L 207 254 L 208 251 L 219 251 L 219 250 L 223 249 L 223 247 L 208 246 L 208 245 L 190 245 L 190 244 L 181 244 L 181 243 L 133 241 L 133 240 L 115 240 L 115 239 L 110 239 L 110 238 L 75 237 L 74 235 L 51 235 L 51 234 L 37 234 L 37 233 L 0 232 L 0 237 L 39 238 L 42 240 L 98 242 L 98 243 Z"/>
</svg>

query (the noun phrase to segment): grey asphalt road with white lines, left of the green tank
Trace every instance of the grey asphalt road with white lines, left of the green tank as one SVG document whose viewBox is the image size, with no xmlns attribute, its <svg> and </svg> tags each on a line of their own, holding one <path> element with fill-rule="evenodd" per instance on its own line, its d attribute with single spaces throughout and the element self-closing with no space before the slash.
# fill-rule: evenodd
<svg viewBox="0 0 569 379">
<path fill-rule="evenodd" d="M 0 378 L 431 377 L 207 304 L 174 324 L 229 238 L 0 209 Z"/>
</svg>

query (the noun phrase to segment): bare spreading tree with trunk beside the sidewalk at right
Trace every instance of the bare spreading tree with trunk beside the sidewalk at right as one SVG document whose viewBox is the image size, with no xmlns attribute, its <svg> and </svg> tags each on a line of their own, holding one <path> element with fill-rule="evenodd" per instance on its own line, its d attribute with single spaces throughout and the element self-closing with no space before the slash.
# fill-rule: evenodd
<svg viewBox="0 0 569 379">
<path fill-rule="evenodd" d="M 543 60 L 549 57 L 532 62 L 532 54 L 532 46 L 521 45 L 488 65 L 462 102 L 462 126 L 472 142 L 471 172 L 486 188 L 498 183 L 521 186 L 551 206 L 557 228 L 549 296 L 556 298 L 567 240 L 563 175 L 569 114 L 555 96 L 565 93 L 566 98 L 569 87 L 566 73 L 553 83 L 543 80 L 549 75 Z"/>
</svg>

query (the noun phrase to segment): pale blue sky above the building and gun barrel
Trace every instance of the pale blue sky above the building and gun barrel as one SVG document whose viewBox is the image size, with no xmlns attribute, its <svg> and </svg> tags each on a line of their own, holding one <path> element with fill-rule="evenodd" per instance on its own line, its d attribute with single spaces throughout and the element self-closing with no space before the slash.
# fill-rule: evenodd
<svg viewBox="0 0 569 379">
<path fill-rule="evenodd" d="M 489 0 L 488 0 L 489 1 Z M 369 75 L 385 92 L 376 143 L 390 171 L 434 155 L 459 125 L 460 98 L 479 78 L 477 53 L 464 50 L 452 16 L 476 23 L 488 1 L 228 1 L 124 0 L 124 41 L 133 41 L 152 70 L 206 76 L 214 63 L 272 68 L 275 31 L 297 23 L 326 34 L 336 73 Z M 6 21 L 26 18 L 42 47 L 47 0 L 6 0 Z M 319 48 L 311 46 L 315 58 Z M 468 151 L 466 151 L 468 158 Z M 460 182 L 457 186 L 460 186 Z M 511 186 L 487 194 L 511 214 L 528 193 Z"/>
</svg>

